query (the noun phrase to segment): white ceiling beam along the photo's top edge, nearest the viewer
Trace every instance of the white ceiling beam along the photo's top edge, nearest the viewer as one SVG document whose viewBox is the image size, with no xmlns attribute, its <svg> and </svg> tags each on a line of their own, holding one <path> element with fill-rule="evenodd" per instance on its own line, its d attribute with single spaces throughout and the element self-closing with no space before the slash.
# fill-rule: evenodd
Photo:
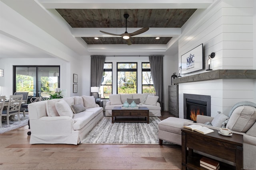
<svg viewBox="0 0 256 170">
<path fill-rule="evenodd" d="M 214 0 L 38 0 L 47 9 L 205 9 Z"/>
</svg>

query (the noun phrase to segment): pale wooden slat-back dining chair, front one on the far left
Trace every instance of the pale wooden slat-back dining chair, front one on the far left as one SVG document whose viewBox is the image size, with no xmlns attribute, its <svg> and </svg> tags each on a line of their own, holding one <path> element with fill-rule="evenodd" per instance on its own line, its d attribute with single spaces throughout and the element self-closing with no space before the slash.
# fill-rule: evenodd
<svg viewBox="0 0 256 170">
<path fill-rule="evenodd" d="M 20 121 L 20 106 L 22 103 L 22 94 L 12 95 L 9 98 L 8 106 L 6 110 L 2 111 L 1 115 L 1 127 L 2 127 L 2 116 L 6 116 L 7 125 L 10 125 L 9 116 L 18 115 L 18 120 Z"/>
</svg>

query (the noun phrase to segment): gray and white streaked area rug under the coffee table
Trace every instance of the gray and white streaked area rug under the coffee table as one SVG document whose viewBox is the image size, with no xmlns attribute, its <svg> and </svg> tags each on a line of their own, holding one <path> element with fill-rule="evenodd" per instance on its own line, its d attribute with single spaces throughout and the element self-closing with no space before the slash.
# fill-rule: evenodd
<svg viewBox="0 0 256 170">
<path fill-rule="evenodd" d="M 158 122 L 158 117 L 150 117 L 149 124 L 112 123 L 112 117 L 104 117 L 82 143 L 159 144 Z"/>
</svg>

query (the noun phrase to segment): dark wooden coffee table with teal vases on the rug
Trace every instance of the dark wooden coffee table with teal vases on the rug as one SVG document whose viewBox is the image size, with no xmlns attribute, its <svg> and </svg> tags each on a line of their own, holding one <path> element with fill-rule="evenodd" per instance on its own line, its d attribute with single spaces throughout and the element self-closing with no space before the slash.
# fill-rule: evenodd
<svg viewBox="0 0 256 170">
<path fill-rule="evenodd" d="M 138 109 L 122 109 L 122 107 L 116 106 L 112 109 L 112 123 L 114 122 L 149 123 L 148 107 L 139 107 Z"/>
</svg>

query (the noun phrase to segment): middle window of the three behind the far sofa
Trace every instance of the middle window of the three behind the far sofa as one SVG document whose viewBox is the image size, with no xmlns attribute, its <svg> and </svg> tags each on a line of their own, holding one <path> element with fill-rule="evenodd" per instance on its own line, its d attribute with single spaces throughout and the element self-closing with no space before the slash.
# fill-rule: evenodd
<svg viewBox="0 0 256 170">
<path fill-rule="evenodd" d="M 117 63 L 117 93 L 137 93 L 137 63 Z"/>
</svg>

